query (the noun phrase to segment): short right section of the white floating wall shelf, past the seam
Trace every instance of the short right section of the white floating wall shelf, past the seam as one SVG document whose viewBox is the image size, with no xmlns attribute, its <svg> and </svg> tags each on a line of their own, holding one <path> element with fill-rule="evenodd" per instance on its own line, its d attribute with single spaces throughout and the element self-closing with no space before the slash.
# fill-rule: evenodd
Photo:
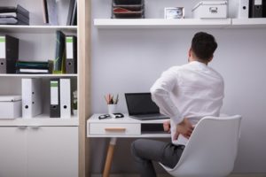
<svg viewBox="0 0 266 177">
<path fill-rule="evenodd" d="M 260 28 L 266 27 L 266 18 L 231 19 L 231 23 L 232 27 Z"/>
</svg>

